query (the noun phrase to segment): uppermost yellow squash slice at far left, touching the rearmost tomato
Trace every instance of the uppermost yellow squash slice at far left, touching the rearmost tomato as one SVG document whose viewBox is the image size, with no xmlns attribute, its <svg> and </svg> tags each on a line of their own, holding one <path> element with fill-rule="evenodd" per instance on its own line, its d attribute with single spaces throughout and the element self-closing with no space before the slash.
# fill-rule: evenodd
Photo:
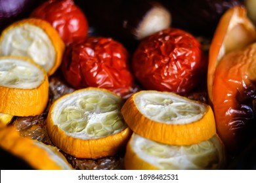
<svg viewBox="0 0 256 183">
<path fill-rule="evenodd" d="M 64 42 L 45 20 L 28 18 L 5 28 L 0 37 L 1 56 L 24 56 L 41 65 L 47 74 L 58 69 L 64 52 Z"/>
</svg>

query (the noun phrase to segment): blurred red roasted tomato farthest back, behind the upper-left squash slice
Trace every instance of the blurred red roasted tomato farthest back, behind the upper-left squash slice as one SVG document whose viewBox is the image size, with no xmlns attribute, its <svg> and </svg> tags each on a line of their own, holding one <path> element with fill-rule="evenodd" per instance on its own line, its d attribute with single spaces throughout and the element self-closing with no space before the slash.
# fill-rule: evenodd
<svg viewBox="0 0 256 183">
<path fill-rule="evenodd" d="M 87 18 L 72 0 L 46 1 L 35 8 L 31 16 L 53 25 L 66 45 L 87 37 Z"/>
</svg>

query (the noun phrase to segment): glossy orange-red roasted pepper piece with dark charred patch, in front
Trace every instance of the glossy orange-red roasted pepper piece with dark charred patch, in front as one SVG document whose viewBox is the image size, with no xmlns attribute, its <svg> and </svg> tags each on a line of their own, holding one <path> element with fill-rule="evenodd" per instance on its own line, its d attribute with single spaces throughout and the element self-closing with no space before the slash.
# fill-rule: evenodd
<svg viewBox="0 0 256 183">
<path fill-rule="evenodd" d="M 221 59 L 213 85 L 217 133 L 232 154 L 255 138 L 256 44 Z"/>
</svg>

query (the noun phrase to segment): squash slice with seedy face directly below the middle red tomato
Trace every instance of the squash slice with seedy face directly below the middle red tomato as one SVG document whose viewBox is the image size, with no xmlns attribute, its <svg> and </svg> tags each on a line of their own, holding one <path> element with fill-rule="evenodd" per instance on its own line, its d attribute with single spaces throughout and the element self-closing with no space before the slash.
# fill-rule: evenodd
<svg viewBox="0 0 256 183">
<path fill-rule="evenodd" d="M 47 116 L 51 141 L 75 158 L 114 156 L 131 137 L 121 115 L 122 100 L 100 88 L 76 90 L 60 97 Z"/>
</svg>

